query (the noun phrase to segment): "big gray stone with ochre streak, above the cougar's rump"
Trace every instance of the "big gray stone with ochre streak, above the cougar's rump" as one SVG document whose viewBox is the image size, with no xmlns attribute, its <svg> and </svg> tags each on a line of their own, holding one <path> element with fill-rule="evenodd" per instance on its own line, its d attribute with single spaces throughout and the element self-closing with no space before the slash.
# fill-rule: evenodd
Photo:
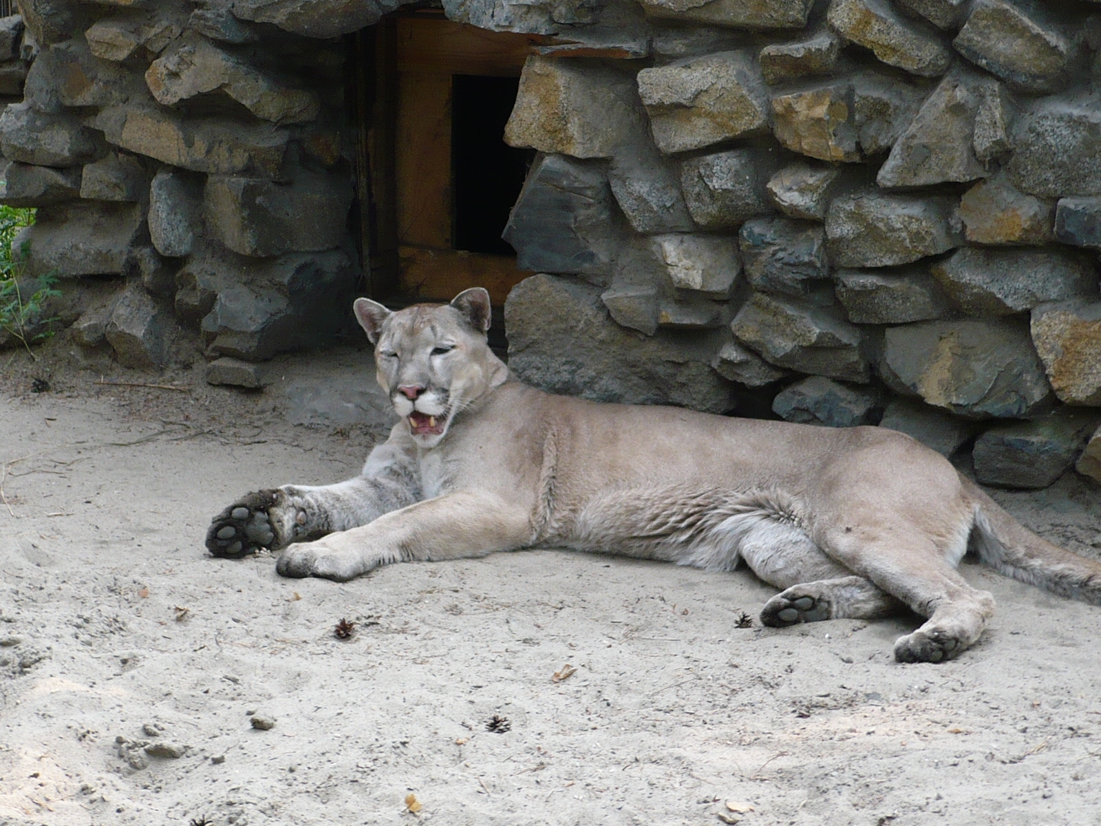
<svg viewBox="0 0 1101 826">
<path fill-rule="evenodd" d="M 889 388 L 972 419 L 1018 419 L 1050 401 L 1044 367 L 1018 319 L 919 322 L 884 332 Z"/>
</svg>

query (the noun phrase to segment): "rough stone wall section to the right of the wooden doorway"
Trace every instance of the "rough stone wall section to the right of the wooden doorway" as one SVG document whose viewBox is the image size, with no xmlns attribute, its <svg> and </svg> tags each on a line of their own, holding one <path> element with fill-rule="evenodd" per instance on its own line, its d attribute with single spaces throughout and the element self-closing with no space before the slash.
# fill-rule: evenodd
<svg viewBox="0 0 1101 826">
<path fill-rule="evenodd" d="M 524 69 L 513 370 L 1101 478 L 1101 7 L 641 8 L 635 59 Z"/>
</svg>

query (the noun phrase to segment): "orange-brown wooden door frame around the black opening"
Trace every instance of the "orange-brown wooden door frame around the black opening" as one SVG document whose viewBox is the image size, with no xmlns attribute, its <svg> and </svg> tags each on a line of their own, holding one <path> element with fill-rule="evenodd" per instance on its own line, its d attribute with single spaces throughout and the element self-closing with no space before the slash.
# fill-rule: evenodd
<svg viewBox="0 0 1101 826">
<path fill-rule="evenodd" d="M 517 271 L 510 257 L 451 248 L 450 226 L 444 229 L 438 215 L 444 208 L 440 199 L 445 197 L 438 192 L 444 175 L 439 169 L 432 182 L 436 192 L 430 192 L 432 186 L 418 189 L 419 197 L 432 200 L 436 214 L 428 216 L 432 219 L 428 225 L 422 222 L 414 228 L 412 240 L 416 242 L 403 237 L 403 232 L 410 231 L 402 226 L 403 211 L 406 217 L 418 214 L 402 204 L 402 187 L 410 188 L 406 178 L 412 169 L 408 163 L 403 165 L 411 148 L 400 142 L 400 120 L 407 115 L 402 109 L 402 88 L 404 85 L 412 89 L 424 83 L 438 101 L 442 86 L 435 93 L 432 86 L 443 84 L 445 76 L 519 76 L 527 55 L 534 54 L 548 39 L 451 23 L 436 11 L 399 11 L 350 37 L 348 89 L 356 135 L 357 240 L 368 295 L 402 306 L 419 300 L 446 301 L 460 289 L 482 285 L 495 304 L 503 304 L 512 285 L 528 273 Z M 429 116 L 434 101 L 418 102 L 424 115 Z M 450 112 L 446 116 L 449 129 Z M 449 176 L 449 132 L 446 140 Z M 446 198 L 450 198 L 449 177 L 446 186 Z M 446 209 L 448 216 L 454 215 L 450 202 Z"/>
</svg>

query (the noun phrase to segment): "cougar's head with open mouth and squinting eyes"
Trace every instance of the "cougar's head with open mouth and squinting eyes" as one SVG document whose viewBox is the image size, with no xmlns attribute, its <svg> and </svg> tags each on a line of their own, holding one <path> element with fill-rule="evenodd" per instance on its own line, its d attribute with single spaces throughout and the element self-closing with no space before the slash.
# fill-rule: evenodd
<svg viewBox="0 0 1101 826">
<path fill-rule="evenodd" d="M 435 447 L 456 415 L 509 378 L 486 341 L 489 293 L 464 290 L 450 304 L 392 312 L 357 298 L 356 318 L 374 345 L 379 384 L 421 447 Z"/>
</svg>

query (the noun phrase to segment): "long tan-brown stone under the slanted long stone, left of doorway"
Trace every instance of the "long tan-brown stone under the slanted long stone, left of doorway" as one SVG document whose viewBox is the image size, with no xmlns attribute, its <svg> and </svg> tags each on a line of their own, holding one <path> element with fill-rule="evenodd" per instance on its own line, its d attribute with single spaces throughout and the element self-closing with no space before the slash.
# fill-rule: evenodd
<svg viewBox="0 0 1101 826">
<path fill-rule="evenodd" d="M 279 177 L 288 140 L 286 130 L 269 123 L 183 118 L 170 111 L 129 107 L 101 111 L 96 128 L 102 129 L 108 142 L 117 146 L 211 175 Z"/>
</svg>

